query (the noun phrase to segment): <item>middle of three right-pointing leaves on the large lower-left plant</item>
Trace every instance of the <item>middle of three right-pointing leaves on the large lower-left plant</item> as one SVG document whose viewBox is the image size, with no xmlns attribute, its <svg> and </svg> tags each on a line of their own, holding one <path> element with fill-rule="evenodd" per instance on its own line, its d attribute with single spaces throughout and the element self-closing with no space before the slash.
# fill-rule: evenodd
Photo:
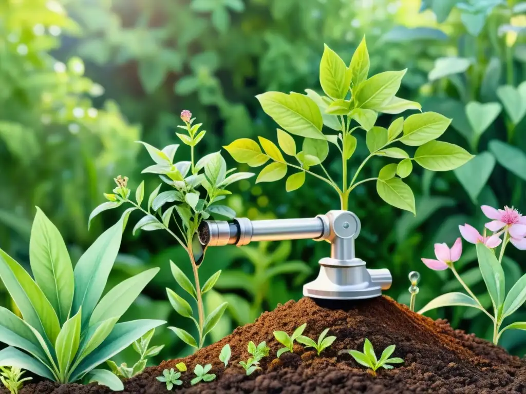
<svg viewBox="0 0 526 394">
<path fill-rule="evenodd" d="M 128 310 L 158 272 L 159 268 L 148 269 L 131 278 L 125 279 L 112 288 L 93 310 L 92 316 L 89 319 L 89 325 L 92 326 L 109 318 L 124 315 L 126 310 Z"/>
</svg>

